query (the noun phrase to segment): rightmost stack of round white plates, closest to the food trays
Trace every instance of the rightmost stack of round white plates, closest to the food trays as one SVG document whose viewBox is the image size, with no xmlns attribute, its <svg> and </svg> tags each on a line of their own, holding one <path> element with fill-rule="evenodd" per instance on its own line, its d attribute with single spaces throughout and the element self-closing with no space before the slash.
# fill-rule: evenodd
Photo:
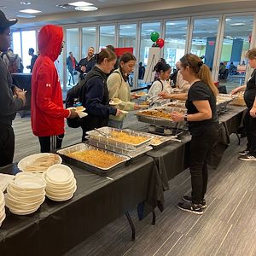
<svg viewBox="0 0 256 256">
<path fill-rule="evenodd" d="M 50 166 L 43 174 L 46 196 L 53 201 L 66 201 L 73 197 L 77 182 L 68 166 Z"/>
</svg>

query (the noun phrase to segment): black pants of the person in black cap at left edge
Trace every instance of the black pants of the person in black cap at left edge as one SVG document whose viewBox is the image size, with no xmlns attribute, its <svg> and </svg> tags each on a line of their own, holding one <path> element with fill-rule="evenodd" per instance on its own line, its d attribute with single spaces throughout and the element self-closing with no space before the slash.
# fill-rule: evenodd
<svg viewBox="0 0 256 256">
<path fill-rule="evenodd" d="M 15 133 L 11 125 L 0 124 L 0 167 L 11 164 L 15 154 Z"/>
</svg>

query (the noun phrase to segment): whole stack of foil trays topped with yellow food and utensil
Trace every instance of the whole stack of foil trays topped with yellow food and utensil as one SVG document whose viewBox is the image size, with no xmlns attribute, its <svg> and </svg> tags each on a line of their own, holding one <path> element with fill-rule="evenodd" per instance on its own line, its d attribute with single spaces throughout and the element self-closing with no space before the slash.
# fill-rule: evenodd
<svg viewBox="0 0 256 256">
<path fill-rule="evenodd" d="M 102 131 L 102 134 L 98 131 Z M 119 130 L 102 127 L 98 131 L 88 131 L 88 143 L 98 148 L 136 158 L 152 149 L 150 134 L 140 131 Z M 104 135 L 105 134 L 105 135 Z"/>
</svg>

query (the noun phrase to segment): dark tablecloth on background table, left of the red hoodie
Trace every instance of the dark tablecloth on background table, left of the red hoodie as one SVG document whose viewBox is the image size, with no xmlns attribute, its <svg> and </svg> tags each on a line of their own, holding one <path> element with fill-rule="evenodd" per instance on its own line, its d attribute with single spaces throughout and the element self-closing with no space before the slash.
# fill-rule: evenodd
<svg viewBox="0 0 256 256">
<path fill-rule="evenodd" d="M 23 110 L 30 110 L 32 73 L 12 73 L 12 78 L 13 84 L 26 90 L 26 106 Z"/>
</svg>

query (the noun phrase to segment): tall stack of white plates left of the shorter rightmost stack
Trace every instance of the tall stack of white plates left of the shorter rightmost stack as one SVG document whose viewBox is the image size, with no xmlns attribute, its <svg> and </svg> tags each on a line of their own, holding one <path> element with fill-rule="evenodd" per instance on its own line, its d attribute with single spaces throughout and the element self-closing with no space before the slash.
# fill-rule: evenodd
<svg viewBox="0 0 256 256">
<path fill-rule="evenodd" d="M 5 204 L 10 212 L 26 215 L 36 212 L 45 199 L 46 184 L 32 173 L 20 172 L 9 183 Z"/>
</svg>

